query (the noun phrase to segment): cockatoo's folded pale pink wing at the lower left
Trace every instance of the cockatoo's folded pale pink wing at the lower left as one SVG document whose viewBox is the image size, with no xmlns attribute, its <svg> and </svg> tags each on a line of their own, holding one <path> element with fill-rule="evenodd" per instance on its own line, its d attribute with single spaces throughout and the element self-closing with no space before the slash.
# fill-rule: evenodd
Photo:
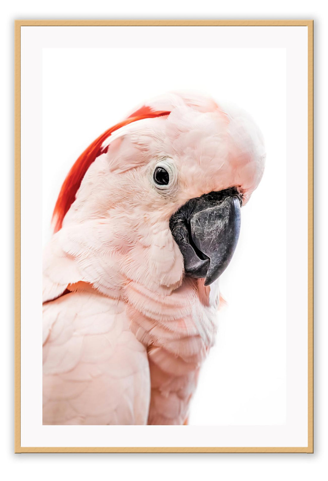
<svg viewBox="0 0 328 481">
<path fill-rule="evenodd" d="M 43 305 L 43 424 L 147 424 L 150 372 L 126 305 L 93 289 Z"/>
</svg>

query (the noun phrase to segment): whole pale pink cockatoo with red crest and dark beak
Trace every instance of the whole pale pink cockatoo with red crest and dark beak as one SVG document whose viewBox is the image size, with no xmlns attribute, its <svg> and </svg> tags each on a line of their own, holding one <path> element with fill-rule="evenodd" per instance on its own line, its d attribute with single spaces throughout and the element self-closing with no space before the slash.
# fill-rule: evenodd
<svg viewBox="0 0 328 481">
<path fill-rule="evenodd" d="M 245 112 L 189 94 L 147 102 L 83 152 L 44 252 L 43 424 L 187 422 L 264 162 Z"/>
</svg>

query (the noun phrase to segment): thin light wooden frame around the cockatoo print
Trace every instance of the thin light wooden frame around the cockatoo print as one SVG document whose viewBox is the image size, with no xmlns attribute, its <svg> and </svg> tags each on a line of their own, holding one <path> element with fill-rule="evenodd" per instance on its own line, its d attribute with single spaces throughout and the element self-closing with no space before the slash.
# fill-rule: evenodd
<svg viewBox="0 0 328 481">
<path fill-rule="evenodd" d="M 58 447 L 21 444 L 21 28 L 72 26 L 303 26 L 308 45 L 308 441 L 306 446 Z M 312 20 L 16 20 L 15 21 L 15 452 L 16 453 L 313 453 L 313 21 Z"/>
</svg>

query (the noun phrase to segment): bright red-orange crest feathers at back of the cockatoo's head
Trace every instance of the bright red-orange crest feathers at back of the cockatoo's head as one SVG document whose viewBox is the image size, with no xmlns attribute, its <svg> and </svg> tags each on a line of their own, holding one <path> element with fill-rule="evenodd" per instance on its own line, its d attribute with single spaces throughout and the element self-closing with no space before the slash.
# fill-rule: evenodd
<svg viewBox="0 0 328 481">
<path fill-rule="evenodd" d="M 62 188 L 60 190 L 55 208 L 53 210 L 52 220 L 55 219 L 54 232 L 57 232 L 62 228 L 63 219 L 71 207 L 72 203 L 75 201 L 76 192 L 79 189 L 82 179 L 85 176 L 89 166 L 96 160 L 99 155 L 107 152 L 107 148 L 102 149 L 102 143 L 117 129 L 124 127 L 131 122 L 136 122 L 137 120 L 162 117 L 163 115 L 168 115 L 170 112 L 157 111 L 152 112 L 151 108 L 148 106 L 143 106 L 136 112 L 131 114 L 127 119 L 114 125 L 114 127 L 109 128 L 103 134 L 101 134 L 98 139 L 94 140 L 87 149 L 79 156 L 75 164 L 67 174 Z"/>
</svg>

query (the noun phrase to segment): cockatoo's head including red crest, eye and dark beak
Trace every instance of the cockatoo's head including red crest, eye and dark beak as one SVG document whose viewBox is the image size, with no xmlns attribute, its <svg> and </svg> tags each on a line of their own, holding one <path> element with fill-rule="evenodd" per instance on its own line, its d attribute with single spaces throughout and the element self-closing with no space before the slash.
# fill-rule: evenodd
<svg viewBox="0 0 328 481">
<path fill-rule="evenodd" d="M 97 255 L 122 255 L 126 278 L 209 285 L 234 253 L 240 208 L 264 162 L 262 135 L 245 112 L 200 95 L 159 97 L 79 157 L 56 203 L 55 230 L 89 229 Z"/>
</svg>

